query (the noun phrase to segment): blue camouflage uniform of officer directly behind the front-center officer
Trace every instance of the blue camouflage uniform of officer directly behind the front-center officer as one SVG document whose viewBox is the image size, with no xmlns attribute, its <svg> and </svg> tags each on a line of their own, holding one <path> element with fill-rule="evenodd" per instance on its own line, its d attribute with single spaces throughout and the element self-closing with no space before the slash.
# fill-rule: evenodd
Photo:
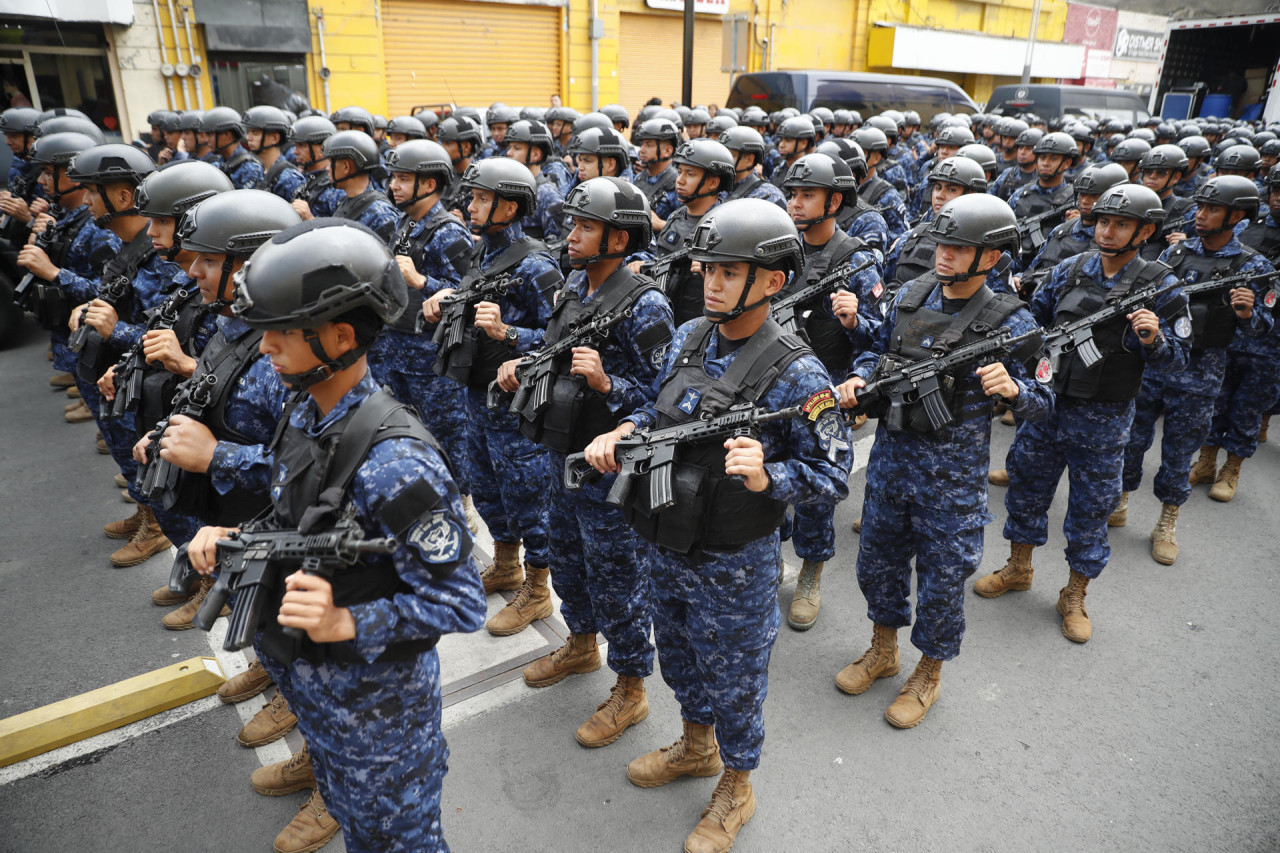
<svg viewBox="0 0 1280 853">
<path fill-rule="evenodd" d="M 570 286 L 584 305 L 594 298 L 588 297 L 586 273 L 572 273 Z M 595 347 L 612 382 L 605 402 L 616 416 L 654 401 L 654 379 L 668 350 L 662 346 L 644 352 L 636 345 L 641 333 L 653 327 L 666 329 L 668 339 L 675 334 L 671 304 L 660 291 L 650 289 Z M 561 616 L 575 634 L 604 634 L 611 670 L 646 678 L 653 672 L 648 546 L 627 525 L 621 510 L 604 502 L 614 475 L 570 492 L 559 475 L 563 470 L 564 456 L 552 452 L 548 528 L 556 532 L 550 539 L 552 581 L 561 597 Z"/>
</svg>

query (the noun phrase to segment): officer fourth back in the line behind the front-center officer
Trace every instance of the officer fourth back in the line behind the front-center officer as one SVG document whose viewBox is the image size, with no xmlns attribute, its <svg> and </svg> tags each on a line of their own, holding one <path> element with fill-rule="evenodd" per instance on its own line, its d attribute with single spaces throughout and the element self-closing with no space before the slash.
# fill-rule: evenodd
<svg viewBox="0 0 1280 853">
<path fill-rule="evenodd" d="M 408 310 L 389 323 L 370 347 L 369 370 L 378 384 L 413 406 L 438 437 L 470 510 L 462 389 L 431 370 L 436 346 L 430 332 L 419 332 L 417 327 L 422 301 L 445 287 L 456 288 L 470 269 L 471 233 L 440 202 L 453 183 L 453 164 L 438 142 L 401 142 L 387 152 L 387 168 L 392 199 L 404 211 L 392 240 L 392 252 L 408 284 Z"/>
</svg>

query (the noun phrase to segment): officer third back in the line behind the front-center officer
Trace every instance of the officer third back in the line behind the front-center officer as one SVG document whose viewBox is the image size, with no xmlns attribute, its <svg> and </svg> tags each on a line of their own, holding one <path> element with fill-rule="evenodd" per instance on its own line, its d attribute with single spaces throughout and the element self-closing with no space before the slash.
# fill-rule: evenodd
<svg viewBox="0 0 1280 853">
<path fill-rule="evenodd" d="M 422 304 L 428 323 L 439 323 L 444 300 L 509 277 L 495 301 L 481 301 L 462 320 L 462 342 L 440 347 L 433 369 L 463 387 L 467 461 L 476 511 L 494 540 L 494 562 L 484 571 L 485 592 L 516 589 L 516 597 L 489 620 L 497 637 L 517 634 L 552 613 L 547 494 L 552 475 L 547 451 L 520 432 L 518 416 L 490 411 L 489 384 L 512 356 L 538 348 L 550 318 L 550 297 L 564 280 L 543 243 L 520 227 L 534 206 L 538 182 L 509 158 L 472 163 L 462 178 L 471 193 L 470 228 L 481 238 L 476 261 L 458 288 L 444 287 Z M 525 546 L 525 565 L 520 544 Z"/>
</svg>

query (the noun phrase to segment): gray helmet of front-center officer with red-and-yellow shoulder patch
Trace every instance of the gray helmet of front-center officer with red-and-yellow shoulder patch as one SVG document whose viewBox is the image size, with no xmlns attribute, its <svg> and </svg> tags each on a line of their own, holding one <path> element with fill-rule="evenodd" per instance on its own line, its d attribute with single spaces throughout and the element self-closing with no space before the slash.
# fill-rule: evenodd
<svg viewBox="0 0 1280 853">
<path fill-rule="evenodd" d="M 804 243 L 791 216 L 763 199 L 735 199 L 713 207 L 690 240 L 690 257 L 700 264 L 749 264 L 742 295 L 731 311 L 704 311 L 712 323 L 727 323 L 767 305 L 769 297 L 748 305 L 759 268 L 794 275 L 804 272 Z"/>
</svg>

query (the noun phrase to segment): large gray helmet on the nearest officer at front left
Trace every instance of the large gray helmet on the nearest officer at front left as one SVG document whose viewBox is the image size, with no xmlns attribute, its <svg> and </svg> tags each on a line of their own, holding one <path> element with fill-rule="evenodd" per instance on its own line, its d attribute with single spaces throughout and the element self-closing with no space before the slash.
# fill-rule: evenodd
<svg viewBox="0 0 1280 853">
<path fill-rule="evenodd" d="M 351 324 L 356 345 L 339 356 L 325 352 L 319 336 L 305 336 L 320 364 L 279 375 L 306 389 L 356 364 L 407 305 L 404 277 L 378 234 L 356 222 L 312 219 L 273 236 L 244 263 L 232 314 L 255 329 Z"/>
</svg>

